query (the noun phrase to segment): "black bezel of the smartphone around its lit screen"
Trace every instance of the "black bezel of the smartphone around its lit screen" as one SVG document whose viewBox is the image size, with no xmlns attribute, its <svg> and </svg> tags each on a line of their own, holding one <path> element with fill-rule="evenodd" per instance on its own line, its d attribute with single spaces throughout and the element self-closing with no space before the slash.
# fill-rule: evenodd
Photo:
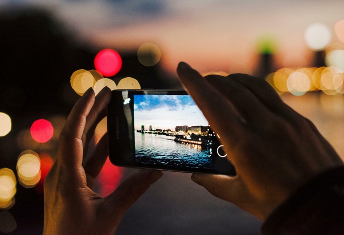
<svg viewBox="0 0 344 235">
<path fill-rule="evenodd" d="M 185 173 L 208 173 L 221 175 L 235 175 L 234 167 L 231 169 L 203 169 L 190 167 L 168 167 L 138 164 L 135 161 L 135 138 L 134 138 L 134 102 L 123 105 L 123 91 L 127 92 L 127 98 L 133 100 L 135 94 L 166 94 L 166 95 L 189 95 L 183 89 L 115 89 L 112 91 L 112 99 L 108 105 L 108 136 L 109 136 L 109 159 L 121 167 L 158 169 L 164 171 Z M 129 117 L 130 116 L 130 117 Z M 130 120 L 131 119 L 131 120 Z M 130 136 L 132 135 L 132 136 Z"/>
</svg>

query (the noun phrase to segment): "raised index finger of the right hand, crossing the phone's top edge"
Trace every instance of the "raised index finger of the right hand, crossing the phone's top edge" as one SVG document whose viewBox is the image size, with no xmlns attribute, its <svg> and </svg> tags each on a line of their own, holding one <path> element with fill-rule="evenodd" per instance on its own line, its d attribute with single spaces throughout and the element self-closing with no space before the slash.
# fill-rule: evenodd
<svg viewBox="0 0 344 235">
<path fill-rule="evenodd" d="M 178 64 L 180 81 L 192 96 L 213 130 L 226 143 L 237 143 L 244 136 L 244 123 L 235 113 L 232 105 L 212 88 L 203 77 L 187 63 Z M 228 135 L 230 133 L 230 135 Z"/>
</svg>

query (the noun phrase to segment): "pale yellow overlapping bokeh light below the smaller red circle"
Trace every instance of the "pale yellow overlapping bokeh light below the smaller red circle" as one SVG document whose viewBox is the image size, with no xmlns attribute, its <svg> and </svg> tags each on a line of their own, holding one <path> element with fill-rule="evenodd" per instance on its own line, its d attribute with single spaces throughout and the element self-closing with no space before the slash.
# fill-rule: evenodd
<svg viewBox="0 0 344 235">
<path fill-rule="evenodd" d="M 41 178 L 41 162 L 36 152 L 26 150 L 20 153 L 17 161 L 19 183 L 26 187 L 34 187 Z"/>
</svg>

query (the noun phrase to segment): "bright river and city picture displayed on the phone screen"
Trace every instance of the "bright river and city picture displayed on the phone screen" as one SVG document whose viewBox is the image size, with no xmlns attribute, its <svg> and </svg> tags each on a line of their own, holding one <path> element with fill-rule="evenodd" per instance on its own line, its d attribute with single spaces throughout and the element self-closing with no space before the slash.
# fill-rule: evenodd
<svg viewBox="0 0 344 235">
<path fill-rule="evenodd" d="M 225 154 L 189 95 L 134 95 L 136 163 L 214 169 Z"/>
</svg>

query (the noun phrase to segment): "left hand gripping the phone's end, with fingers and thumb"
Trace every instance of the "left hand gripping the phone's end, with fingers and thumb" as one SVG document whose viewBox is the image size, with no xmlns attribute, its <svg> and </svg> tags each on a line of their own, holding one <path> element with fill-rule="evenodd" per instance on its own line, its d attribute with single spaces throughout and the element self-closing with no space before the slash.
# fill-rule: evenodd
<svg viewBox="0 0 344 235">
<path fill-rule="evenodd" d="M 74 105 L 62 129 L 57 160 L 44 181 L 43 234 L 113 235 L 125 211 L 163 173 L 141 170 L 128 177 L 107 197 L 93 191 L 93 180 L 108 156 L 107 135 L 94 151 L 88 149 L 96 120 L 102 119 L 111 90 L 97 97 L 92 88 Z M 83 162 L 87 151 L 89 160 Z"/>
</svg>

